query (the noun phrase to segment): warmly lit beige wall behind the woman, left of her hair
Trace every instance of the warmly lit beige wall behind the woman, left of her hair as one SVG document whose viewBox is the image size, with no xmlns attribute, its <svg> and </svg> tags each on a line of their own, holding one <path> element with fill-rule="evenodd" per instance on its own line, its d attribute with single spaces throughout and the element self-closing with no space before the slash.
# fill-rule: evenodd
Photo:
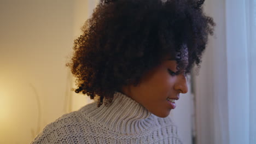
<svg viewBox="0 0 256 144">
<path fill-rule="evenodd" d="M 89 4 L 95 2 L 0 1 L 0 143 L 29 143 L 46 124 L 85 104 L 70 91 L 65 63 Z"/>
</svg>

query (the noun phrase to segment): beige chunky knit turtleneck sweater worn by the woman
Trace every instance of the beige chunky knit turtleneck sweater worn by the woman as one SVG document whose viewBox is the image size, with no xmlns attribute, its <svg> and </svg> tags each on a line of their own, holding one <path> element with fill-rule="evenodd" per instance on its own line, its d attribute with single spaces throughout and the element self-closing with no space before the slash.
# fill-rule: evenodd
<svg viewBox="0 0 256 144">
<path fill-rule="evenodd" d="M 48 124 L 31 143 L 181 144 L 171 118 L 160 118 L 116 92 L 108 106 L 85 105 Z"/>
</svg>

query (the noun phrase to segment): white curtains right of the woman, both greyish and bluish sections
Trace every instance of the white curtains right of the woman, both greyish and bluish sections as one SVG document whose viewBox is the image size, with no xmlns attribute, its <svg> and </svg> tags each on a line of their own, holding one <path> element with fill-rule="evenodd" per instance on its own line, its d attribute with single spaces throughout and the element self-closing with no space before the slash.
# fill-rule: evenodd
<svg viewBox="0 0 256 144">
<path fill-rule="evenodd" d="M 256 0 L 208 0 L 217 23 L 196 76 L 196 143 L 256 143 Z"/>
</svg>

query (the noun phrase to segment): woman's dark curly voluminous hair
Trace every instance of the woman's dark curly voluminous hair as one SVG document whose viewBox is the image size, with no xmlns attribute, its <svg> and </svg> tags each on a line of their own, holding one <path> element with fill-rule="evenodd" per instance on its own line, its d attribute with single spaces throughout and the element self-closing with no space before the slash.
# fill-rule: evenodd
<svg viewBox="0 0 256 144">
<path fill-rule="evenodd" d="M 111 103 L 115 91 L 137 85 L 143 74 L 176 59 L 189 74 L 199 65 L 215 25 L 202 11 L 204 1 L 101 0 L 74 41 L 67 66 L 77 78 L 76 93 Z M 185 47 L 185 49 L 184 49 Z M 187 53 L 187 63 L 182 58 Z"/>
</svg>

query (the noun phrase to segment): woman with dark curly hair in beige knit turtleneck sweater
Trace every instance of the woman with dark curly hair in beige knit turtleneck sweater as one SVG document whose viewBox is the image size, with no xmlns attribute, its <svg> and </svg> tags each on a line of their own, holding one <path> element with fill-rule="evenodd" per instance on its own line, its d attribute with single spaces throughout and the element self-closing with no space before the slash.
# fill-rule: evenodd
<svg viewBox="0 0 256 144">
<path fill-rule="evenodd" d="M 32 143 L 182 143 L 168 115 L 213 34 L 202 4 L 101 1 L 67 64 L 75 92 L 95 102 L 47 125 Z"/>
</svg>

